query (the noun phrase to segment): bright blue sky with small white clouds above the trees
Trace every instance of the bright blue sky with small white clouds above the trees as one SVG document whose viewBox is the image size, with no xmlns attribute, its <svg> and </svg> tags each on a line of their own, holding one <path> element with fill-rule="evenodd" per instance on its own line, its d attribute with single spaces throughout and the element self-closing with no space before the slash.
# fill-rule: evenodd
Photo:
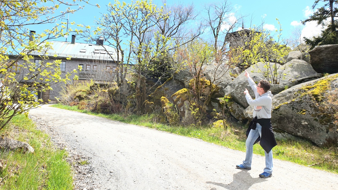
<svg viewBox="0 0 338 190">
<path fill-rule="evenodd" d="M 94 25 L 93 21 L 96 18 L 99 18 L 101 13 L 106 11 L 106 5 L 110 0 L 99 0 L 99 1 L 89 1 L 92 4 L 99 4 L 100 8 L 91 5 L 85 5 L 85 7 L 74 14 L 69 14 L 69 22 L 75 22 L 76 24 L 83 25 Z M 121 1 L 122 2 L 122 1 Z M 125 1 L 129 3 L 130 1 Z M 161 0 L 154 0 L 155 4 L 161 5 Z M 202 10 L 202 4 L 204 3 L 212 3 L 215 1 L 203 1 L 203 0 L 184 0 L 184 1 L 168 1 L 169 4 L 172 3 L 182 3 L 183 4 L 191 4 L 195 5 L 195 9 L 198 12 Z M 233 19 L 239 18 L 239 15 L 248 15 L 245 19 L 247 23 L 244 23 L 244 26 L 249 27 L 249 21 L 252 19 L 252 23 L 255 25 L 259 25 L 264 18 L 264 28 L 269 30 L 274 30 L 279 28 L 276 18 L 279 19 L 282 24 L 282 36 L 288 37 L 292 35 L 292 31 L 295 27 L 300 27 L 300 31 L 302 36 L 311 37 L 320 32 L 320 26 L 316 26 L 315 23 L 308 23 L 305 26 L 300 25 L 300 20 L 304 20 L 308 18 L 313 10 L 312 5 L 314 0 L 284 0 L 284 1 L 276 1 L 276 0 L 228 0 L 232 4 L 233 7 Z M 319 3 L 322 5 L 323 3 Z M 62 9 L 60 9 L 62 10 Z M 202 16 L 202 15 L 201 15 Z M 68 16 L 66 16 L 67 18 Z M 65 22 L 65 20 L 63 20 Z M 75 29 L 75 25 L 69 25 Z M 30 30 L 35 30 L 37 33 L 41 33 L 46 26 L 30 26 Z M 65 39 L 58 38 L 57 40 L 64 41 Z M 68 41 L 70 38 L 68 38 Z"/>
</svg>

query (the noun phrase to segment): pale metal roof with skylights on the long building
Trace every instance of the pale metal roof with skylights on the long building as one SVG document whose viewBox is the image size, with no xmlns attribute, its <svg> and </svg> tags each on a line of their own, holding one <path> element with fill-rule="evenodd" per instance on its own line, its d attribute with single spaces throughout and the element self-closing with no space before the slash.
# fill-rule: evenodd
<svg viewBox="0 0 338 190">
<path fill-rule="evenodd" d="M 47 51 L 48 56 L 57 55 L 57 57 L 95 59 L 95 60 L 114 60 L 117 61 L 116 49 L 107 45 L 84 44 L 71 42 L 50 41 L 52 50 Z M 106 49 L 106 50 L 105 50 Z M 44 52 L 33 51 L 30 55 L 43 55 Z M 109 56 L 112 55 L 113 59 Z M 121 60 L 121 55 L 119 56 Z"/>
</svg>

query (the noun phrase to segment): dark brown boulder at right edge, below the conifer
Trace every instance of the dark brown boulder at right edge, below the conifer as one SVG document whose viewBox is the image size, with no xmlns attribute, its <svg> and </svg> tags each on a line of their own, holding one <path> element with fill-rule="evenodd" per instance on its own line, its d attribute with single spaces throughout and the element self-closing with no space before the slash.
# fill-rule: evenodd
<svg viewBox="0 0 338 190">
<path fill-rule="evenodd" d="M 310 64 L 317 73 L 338 73 L 338 44 L 315 47 L 310 53 Z"/>
</svg>

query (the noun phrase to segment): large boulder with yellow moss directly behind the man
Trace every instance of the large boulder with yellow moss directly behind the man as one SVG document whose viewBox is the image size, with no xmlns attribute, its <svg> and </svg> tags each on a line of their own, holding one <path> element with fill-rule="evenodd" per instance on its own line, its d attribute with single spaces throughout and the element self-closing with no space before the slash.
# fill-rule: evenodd
<svg viewBox="0 0 338 190">
<path fill-rule="evenodd" d="M 273 97 L 274 128 L 308 139 L 319 146 L 338 143 L 337 118 L 325 105 L 338 84 L 338 74 L 298 84 Z"/>
</svg>

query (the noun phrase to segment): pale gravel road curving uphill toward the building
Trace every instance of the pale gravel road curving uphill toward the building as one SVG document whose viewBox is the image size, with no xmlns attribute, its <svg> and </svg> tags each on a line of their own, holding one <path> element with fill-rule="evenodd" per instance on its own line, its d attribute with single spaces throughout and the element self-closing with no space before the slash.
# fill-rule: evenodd
<svg viewBox="0 0 338 190">
<path fill-rule="evenodd" d="M 338 189 L 337 174 L 277 159 L 273 176 L 259 178 L 263 156 L 254 155 L 251 170 L 236 169 L 244 152 L 199 139 L 48 105 L 29 115 L 69 152 L 75 189 Z"/>
</svg>

